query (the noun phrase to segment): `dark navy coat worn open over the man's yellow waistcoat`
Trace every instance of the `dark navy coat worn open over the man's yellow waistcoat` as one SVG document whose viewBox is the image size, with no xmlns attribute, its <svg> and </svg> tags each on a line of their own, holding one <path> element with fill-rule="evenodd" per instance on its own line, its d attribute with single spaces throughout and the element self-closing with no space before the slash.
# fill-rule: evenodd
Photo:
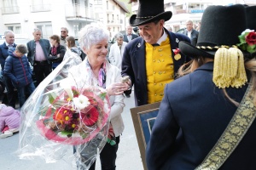
<svg viewBox="0 0 256 170">
<path fill-rule="evenodd" d="M 170 38 L 172 49 L 178 48 L 179 41 L 190 42 L 189 37 L 182 34 L 175 34 L 166 31 Z M 172 51 L 172 50 L 171 50 Z M 122 77 L 129 76 L 132 85 L 134 84 L 135 105 L 148 104 L 148 88 L 146 74 L 146 47 L 143 37 L 138 37 L 125 46 L 125 51 L 122 60 Z M 181 59 L 174 59 L 172 51 L 172 59 L 174 63 L 174 71 L 187 62 L 189 59 L 182 54 Z"/>
</svg>

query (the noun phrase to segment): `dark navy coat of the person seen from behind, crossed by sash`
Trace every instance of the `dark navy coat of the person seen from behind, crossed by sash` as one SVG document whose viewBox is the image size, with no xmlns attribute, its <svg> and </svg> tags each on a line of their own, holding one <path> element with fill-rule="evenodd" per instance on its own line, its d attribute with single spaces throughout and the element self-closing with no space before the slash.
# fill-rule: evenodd
<svg viewBox="0 0 256 170">
<path fill-rule="evenodd" d="M 207 63 L 166 85 L 147 146 L 148 170 L 194 170 L 224 132 L 237 107 L 213 84 L 212 68 Z M 240 102 L 246 89 L 226 90 Z M 254 121 L 220 170 L 256 169 L 255 132 Z"/>
</svg>

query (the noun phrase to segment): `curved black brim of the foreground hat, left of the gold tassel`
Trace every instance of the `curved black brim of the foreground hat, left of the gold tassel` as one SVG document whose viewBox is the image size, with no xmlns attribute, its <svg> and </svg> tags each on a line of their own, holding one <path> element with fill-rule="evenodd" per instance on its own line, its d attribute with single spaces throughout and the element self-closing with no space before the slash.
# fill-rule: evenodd
<svg viewBox="0 0 256 170">
<path fill-rule="evenodd" d="M 191 58 L 198 58 L 198 57 L 205 57 L 205 58 L 214 58 L 214 54 L 216 51 L 207 51 L 200 48 L 196 48 L 194 45 L 192 45 L 189 42 L 181 41 L 178 43 L 178 48 L 180 51 Z"/>
</svg>

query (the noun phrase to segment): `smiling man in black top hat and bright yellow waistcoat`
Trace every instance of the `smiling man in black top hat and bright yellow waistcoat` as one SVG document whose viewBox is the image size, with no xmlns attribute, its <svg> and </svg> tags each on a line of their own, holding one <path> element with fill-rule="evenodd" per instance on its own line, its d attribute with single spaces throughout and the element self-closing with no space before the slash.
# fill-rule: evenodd
<svg viewBox="0 0 256 170">
<path fill-rule="evenodd" d="M 166 83 L 188 61 L 177 48 L 180 41 L 190 42 L 189 37 L 164 28 L 171 17 L 171 11 L 164 11 L 164 0 L 140 0 L 137 14 L 131 15 L 130 25 L 138 26 L 141 37 L 125 47 L 122 76 L 129 76 L 134 85 L 136 105 L 161 101 Z"/>
</svg>

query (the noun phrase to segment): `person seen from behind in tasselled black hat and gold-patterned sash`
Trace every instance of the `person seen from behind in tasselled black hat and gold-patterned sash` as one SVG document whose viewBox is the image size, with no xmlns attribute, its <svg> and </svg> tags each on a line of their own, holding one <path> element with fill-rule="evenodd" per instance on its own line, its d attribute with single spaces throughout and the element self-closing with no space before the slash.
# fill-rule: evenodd
<svg viewBox="0 0 256 170">
<path fill-rule="evenodd" d="M 179 43 L 193 60 L 166 85 L 147 144 L 148 170 L 256 169 L 256 62 L 237 45 L 246 21 L 241 4 L 210 6 L 196 47 Z M 246 93 L 248 87 L 253 90 Z"/>
</svg>

